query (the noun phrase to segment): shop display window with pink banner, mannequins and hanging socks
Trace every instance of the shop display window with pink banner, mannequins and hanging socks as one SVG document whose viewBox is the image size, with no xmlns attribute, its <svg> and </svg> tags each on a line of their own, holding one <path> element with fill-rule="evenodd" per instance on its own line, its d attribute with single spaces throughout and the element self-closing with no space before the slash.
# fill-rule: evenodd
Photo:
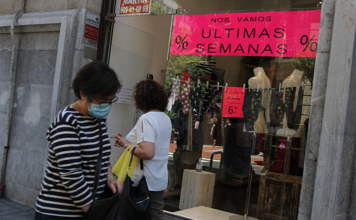
<svg viewBox="0 0 356 220">
<path fill-rule="evenodd" d="M 320 15 L 320 10 L 286 11 L 299 13 L 299 19 L 280 17 L 289 36 L 272 40 L 277 45 L 271 48 L 263 37 L 279 36 L 281 30 L 268 22 L 261 21 L 265 26 L 256 30 L 242 27 L 243 34 L 256 37 L 228 46 L 227 35 L 236 31 L 231 26 L 220 34 L 217 30 L 224 26 L 215 22 L 207 32 L 199 26 L 201 16 L 215 15 L 218 21 L 221 14 L 174 16 L 165 72 L 166 114 L 173 127 L 165 210 L 203 205 L 257 219 L 297 219 L 320 25 L 320 16 L 313 20 L 311 11 Z M 229 19 L 222 22 L 234 26 L 231 18 L 244 13 L 227 12 Z M 215 37 L 199 44 L 193 36 L 198 29 L 200 38 Z M 267 34 L 269 30 L 274 33 Z M 244 54 L 234 54 L 230 47 Z M 203 172 L 197 174 L 199 158 Z"/>
</svg>

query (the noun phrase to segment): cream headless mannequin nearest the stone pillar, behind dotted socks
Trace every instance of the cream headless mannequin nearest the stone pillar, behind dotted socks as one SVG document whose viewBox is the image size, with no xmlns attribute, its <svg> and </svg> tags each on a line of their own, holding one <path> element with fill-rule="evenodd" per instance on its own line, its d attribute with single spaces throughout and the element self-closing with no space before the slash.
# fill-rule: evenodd
<svg viewBox="0 0 356 220">
<path fill-rule="evenodd" d="M 294 69 L 292 74 L 290 74 L 290 76 L 288 76 L 286 79 L 283 80 L 282 82 L 282 87 L 286 88 L 286 87 L 296 87 L 296 91 L 295 94 L 298 94 L 299 92 L 299 88 L 298 86 L 302 86 L 302 76 L 304 74 L 304 71 L 301 70 L 297 70 Z M 293 85 L 292 85 L 293 83 Z M 283 102 L 284 99 L 286 98 L 285 94 L 283 95 Z M 298 96 L 295 96 L 294 99 L 294 106 L 293 106 L 293 111 L 295 110 L 295 108 L 297 107 L 297 103 L 298 103 Z M 291 136 L 291 137 L 295 137 L 296 132 L 292 129 L 288 128 L 288 124 L 287 124 L 287 117 L 286 117 L 286 113 L 284 112 L 284 116 L 283 116 L 283 128 L 277 130 L 276 134 L 279 136 Z"/>
</svg>

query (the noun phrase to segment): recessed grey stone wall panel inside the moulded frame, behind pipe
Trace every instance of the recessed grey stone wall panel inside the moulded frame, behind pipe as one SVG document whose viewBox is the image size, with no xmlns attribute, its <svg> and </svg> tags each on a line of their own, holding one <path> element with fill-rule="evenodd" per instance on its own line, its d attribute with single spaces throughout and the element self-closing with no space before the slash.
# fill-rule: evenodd
<svg viewBox="0 0 356 220">
<path fill-rule="evenodd" d="M 16 35 L 20 50 L 5 196 L 12 198 L 16 195 L 18 200 L 26 204 L 33 203 L 33 198 L 37 196 L 43 174 L 43 158 L 47 146 L 45 137 L 52 98 L 49 94 L 53 89 L 58 37 L 58 31 Z M 4 70 L 0 72 L 0 119 L 1 128 L 4 129 L 11 60 L 10 34 L 0 34 L 0 42 L 0 68 Z M 0 141 L 4 143 L 5 132 L 1 134 Z"/>
</svg>

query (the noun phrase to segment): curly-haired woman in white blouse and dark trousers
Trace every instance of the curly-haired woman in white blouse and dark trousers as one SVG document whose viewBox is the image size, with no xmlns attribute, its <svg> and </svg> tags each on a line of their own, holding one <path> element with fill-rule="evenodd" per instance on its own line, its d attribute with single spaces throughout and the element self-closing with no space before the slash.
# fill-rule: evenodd
<svg viewBox="0 0 356 220">
<path fill-rule="evenodd" d="M 134 154 L 143 160 L 152 220 L 164 220 L 163 198 L 168 184 L 167 163 L 172 132 L 171 119 L 164 113 L 168 97 L 156 81 L 144 80 L 137 83 L 134 98 L 141 117 L 126 138 L 117 133 L 115 141 L 125 148 L 137 146 Z M 137 166 L 133 186 L 137 186 L 140 179 L 141 170 Z"/>
</svg>

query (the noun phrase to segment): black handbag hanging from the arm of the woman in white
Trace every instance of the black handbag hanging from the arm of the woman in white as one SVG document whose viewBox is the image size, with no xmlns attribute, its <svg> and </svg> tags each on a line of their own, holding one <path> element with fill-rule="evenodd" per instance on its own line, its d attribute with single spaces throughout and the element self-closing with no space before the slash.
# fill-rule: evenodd
<svg viewBox="0 0 356 220">
<path fill-rule="evenodd" d="M 131 167 L 133 152 L 132 149 L 129 169 Z M 120 220 L 151 220 L 150 195 L 145 175 L 143 175 L 143 161 L 140 159 L 142 179 L 138 186 L 132 186 L 132 180 L 129 177 L 129 169 L 124 180 L 124 190 L 120 195 Z"/>
</svg>

